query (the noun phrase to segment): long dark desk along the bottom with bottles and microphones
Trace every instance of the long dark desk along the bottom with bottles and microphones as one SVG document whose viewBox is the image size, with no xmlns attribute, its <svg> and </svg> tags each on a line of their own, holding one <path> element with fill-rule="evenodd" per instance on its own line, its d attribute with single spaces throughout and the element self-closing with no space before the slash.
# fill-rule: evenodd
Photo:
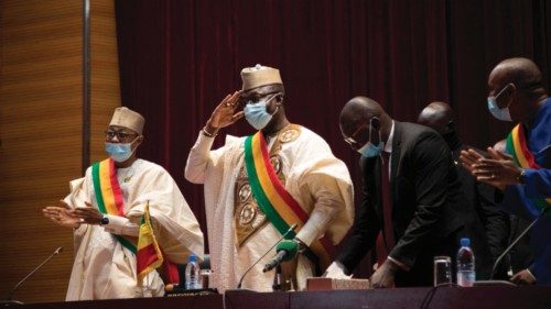
<svg viewBox="0 0 551 309">
<path fill-rule="evenodd" d="M 225 305 L 225 306 L 224 306 Z M 20 308 L 324 309 L 324 308 L 551 308 L 550 287 L 440 287 L 225 295 L 30 304 Z"/>
</svg>

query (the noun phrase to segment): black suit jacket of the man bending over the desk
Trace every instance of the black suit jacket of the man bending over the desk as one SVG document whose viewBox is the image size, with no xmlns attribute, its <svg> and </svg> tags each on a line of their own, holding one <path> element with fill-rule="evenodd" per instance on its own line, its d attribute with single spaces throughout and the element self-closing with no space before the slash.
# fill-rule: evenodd
<svg viewBox="0 0 551 309">
<path fill-rule="evenodd" d="M 397 274 L 397 286 L 430 286 L 434 255 L 457 252 L 464 225 L 458 205 L 461 184 L 444 140 L 425 126 L 395 121 L 390 172 L 392 229 L 397 244 L 390 256 L 411 266 Z M 360 158 L 363 202 L 352 235 L 337 261 L 352 272 L 374 247 L 382 229 L 379 157 Z M 400 272 L 399 272 L 400 273 Z"/>
</svg>

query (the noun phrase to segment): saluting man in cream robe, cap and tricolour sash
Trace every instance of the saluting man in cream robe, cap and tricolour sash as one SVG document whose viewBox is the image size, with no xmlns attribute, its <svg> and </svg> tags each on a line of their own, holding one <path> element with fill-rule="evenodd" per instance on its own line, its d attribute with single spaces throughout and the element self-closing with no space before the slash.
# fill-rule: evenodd
<svg viewBox="0 0 551 309">
<path fill-rule="evenodd" d="M 257 65 L 241 78 L 242 90 L 216 107 L 185 167 L 186 179 L 205 185 L 214 286 L 225 290 L 242 280 L 242 287 L 272 290 L 273 272 L 262 265 L 276 254 L 270 246 L 298 224 L 277 250 L 290 262 L 281 265 L 282 289 L 302 289 L 333 261 L 334 244 L 352 225 L 352 180 L 321 136 L 287 119 L 278 69 Z M 256 133 L 227 135 L 212 151 L 218 131 L 244 117 Z"/>
</svg>

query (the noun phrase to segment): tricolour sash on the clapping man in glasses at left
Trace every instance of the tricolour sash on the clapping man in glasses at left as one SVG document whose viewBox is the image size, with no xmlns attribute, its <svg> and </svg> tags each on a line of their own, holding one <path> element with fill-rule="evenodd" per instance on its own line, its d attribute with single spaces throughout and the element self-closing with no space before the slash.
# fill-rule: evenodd
<svg viewBox="0 0 551 309">
<path fill-rule="evenodd" d="M 91 165 L 91 180 L 99 211 L 105 214 L 125 217 L 122 190 L 117 179 L 115 161 L 107 158 Z M 128 250 L 136 254 L 136 238 L 114 236 Z"/>
</svg>

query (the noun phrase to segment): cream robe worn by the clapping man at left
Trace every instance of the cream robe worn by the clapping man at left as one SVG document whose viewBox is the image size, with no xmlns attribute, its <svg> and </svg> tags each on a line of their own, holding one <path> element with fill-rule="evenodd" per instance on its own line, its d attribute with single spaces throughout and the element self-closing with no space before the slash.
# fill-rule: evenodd
<svg viewBox="0 0 551 309">
<path fill-rule="evenodd" d="M 130 167 L 118 168 L 123 195 L 125 217 L 108 216 L 109 224 L 82 224 L 74 231 L 75 262 L 66 300 L 162 296 L 164 284 L 156 272 L 137 285 L 136 255 L 114 236 L 138 236 L 143 209 L 149 201 L 155 238 L 164 257 L 187 263 L 193 252 L 203 256 L 203 233 L 176 183 L 161 166 L 137 159 Z M 65 201 L 73 208 L 85 201 L 97 207 L 91 168 L 86 176 L 71 181 Z"/>
</svg>

